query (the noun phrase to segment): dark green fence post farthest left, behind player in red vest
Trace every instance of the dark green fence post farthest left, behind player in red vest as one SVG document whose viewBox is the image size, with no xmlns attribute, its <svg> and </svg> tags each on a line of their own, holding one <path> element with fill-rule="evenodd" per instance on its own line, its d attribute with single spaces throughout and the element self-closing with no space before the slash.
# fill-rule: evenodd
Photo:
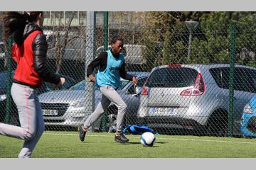
<svg viewBox="0 0 256 170">
<path fill-rule="evenodd" d="M 4 122 L 10 123 L 10 114 L 11 114 L 11 45 L 12 45 L 12 37 L 7 40 L 7 68 L 8 68 L 8 81 L 6 88 L 6 115 Z"/>
</svg>

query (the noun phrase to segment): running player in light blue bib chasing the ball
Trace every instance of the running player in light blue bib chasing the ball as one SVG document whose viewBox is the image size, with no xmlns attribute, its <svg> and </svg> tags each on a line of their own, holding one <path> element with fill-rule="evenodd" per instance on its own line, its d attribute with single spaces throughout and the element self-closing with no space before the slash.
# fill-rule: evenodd
<svg viewBox="0 0 256 170">
<path fill-rule="evenodd" d="M 137 79 L 134 76 L 127 74 L 124 67 L 124 56 L 120 54 L 124 47 L 124 40 L 119 37 L 113 37 L 111 42 L 111 50 L 102 52 L 93 60 L 87 67 L 87 77 L 92 82 L 97 83 L 102 92 L 102 98 L 98 103 L 95 111 L 85 120 L 83 125 L 78 127 L 79 137 L 81 141 L 85 140 L 87 129 L 100 118 L 102 113 L 107 111 L 110 103 L 114 103 L 118 108 L 117 113 L 117 131 L 114 135 L 114 141 L 116 142 L 128 142 L 129 140 L 122 134 L 122 122 L 124 119 L 124 113 L 127 105 L 122 98 L 117 94 L 117 89 L 120 84 L 120 77 L 123 79 L 131 80 L 134 85 L 137 84 Z M 95 67 L 100 66 L 97 72 L 96 78 L 92 75 Z"/>
</svg>

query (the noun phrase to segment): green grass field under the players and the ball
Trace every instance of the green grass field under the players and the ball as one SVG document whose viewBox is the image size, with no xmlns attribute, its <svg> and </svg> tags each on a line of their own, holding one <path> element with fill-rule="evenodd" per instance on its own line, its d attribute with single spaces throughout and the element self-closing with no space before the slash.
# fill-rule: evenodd
<svg viewBox="0 0 256 170">
<path fill-rule="evenodd" d="M 43 133 L 33 158 L 248 158 L 256 157 L 256 139 L 156 135 L 154 147 L 143 147 L 139 135 L 129 142 L 114 142 L 114 134 L 87 132 L 81 142 L 78 132 Z M 16 158 L 22 140 L 0 135 L 0 157 Z"/>
</svg>

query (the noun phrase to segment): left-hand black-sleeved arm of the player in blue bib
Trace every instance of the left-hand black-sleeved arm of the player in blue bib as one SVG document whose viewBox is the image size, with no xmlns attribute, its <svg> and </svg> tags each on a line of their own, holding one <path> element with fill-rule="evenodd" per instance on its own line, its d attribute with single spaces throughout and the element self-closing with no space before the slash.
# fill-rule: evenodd
<svg viewBox="0 0 256 170">
<path fill-rule="evenodd" d="M 105 60 L 107 60 L 107 52 L 101 52 L 100 55 L 95 58 L 95 60 L 93 60 L 92 62 L 90 62 L 90 64 L 87 67 L 87 71 L 86 71 L 86 75 L 87 77 L 89 77 L 90 75 L 92 75 L 93 70 L 95 69 L 95 67 L 97 66 L 101 66 L 105 63 L 107 64 L 107 62 L 105 62 Z M 106 66 L 105 66 L 106 67 Z M 104 68 L 103 68 L 104 69 Z"/>
</svg>

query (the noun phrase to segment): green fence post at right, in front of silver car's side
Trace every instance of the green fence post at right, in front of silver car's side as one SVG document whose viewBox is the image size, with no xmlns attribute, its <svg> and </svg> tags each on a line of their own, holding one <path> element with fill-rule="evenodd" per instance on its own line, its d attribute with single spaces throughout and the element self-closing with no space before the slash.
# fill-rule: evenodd
<svg viewBox="0 0 256 170">
<path fill-rule="evenodd" d="M 230 80 L 229 80 L 229 111 L 228 111 L 228 137 L 233 136 L 234 116 L 234 57 L 235 57 L 235 23 L 230 25 Z"/>
</svg>

